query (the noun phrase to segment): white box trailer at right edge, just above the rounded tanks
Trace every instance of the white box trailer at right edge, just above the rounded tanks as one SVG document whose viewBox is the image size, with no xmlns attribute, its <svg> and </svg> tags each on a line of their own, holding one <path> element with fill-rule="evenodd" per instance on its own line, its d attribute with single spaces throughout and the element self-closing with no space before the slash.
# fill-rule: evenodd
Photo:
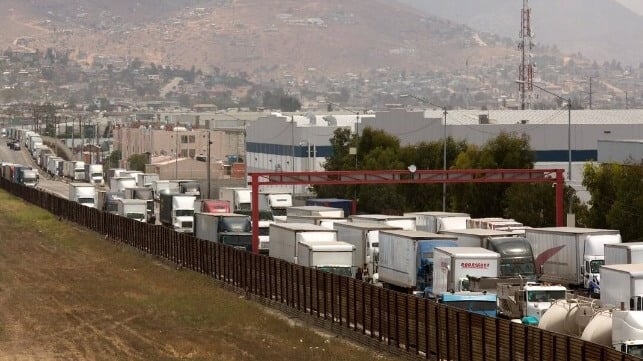
<svg viewBox="0 0 643 361">
<path fill-rule="evenodd" d="M 632 297 L 643 295 L 643 264 L 612 264 L 601 267 L 603 306 L 630 309 Z"/>
</svg>

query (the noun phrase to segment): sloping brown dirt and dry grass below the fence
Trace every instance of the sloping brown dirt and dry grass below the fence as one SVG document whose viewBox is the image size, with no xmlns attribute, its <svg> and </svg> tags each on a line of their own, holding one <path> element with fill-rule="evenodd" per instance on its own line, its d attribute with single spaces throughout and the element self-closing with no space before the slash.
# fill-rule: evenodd
<svg viewBox="0 0 643 361">
<path fill-rule="evenodd" d="M 392 360 L 0 191 L 0 360 Z"/>
</svg>

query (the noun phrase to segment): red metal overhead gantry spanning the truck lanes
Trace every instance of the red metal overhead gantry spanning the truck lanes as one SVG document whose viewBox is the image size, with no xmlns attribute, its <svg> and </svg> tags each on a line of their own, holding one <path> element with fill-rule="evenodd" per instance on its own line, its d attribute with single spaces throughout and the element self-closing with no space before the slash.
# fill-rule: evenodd
<svg viewBox="0 0 643 361">
<path fill-rule="evenodd" d="M 252 178 L 252 251 L 259 252 L 260 185 L 554 183 L 556 226 L 563 225 L 563 169 L 364 170 L 249 173 Z"/>
</svg>

